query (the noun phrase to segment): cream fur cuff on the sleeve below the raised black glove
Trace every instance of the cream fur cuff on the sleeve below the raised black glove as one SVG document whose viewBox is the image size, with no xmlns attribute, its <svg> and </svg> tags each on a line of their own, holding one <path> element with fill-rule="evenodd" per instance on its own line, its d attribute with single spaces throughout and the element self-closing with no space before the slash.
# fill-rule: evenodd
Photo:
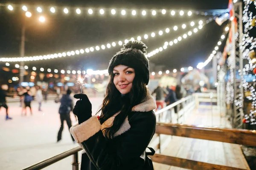
<svg viewBox="0 0 256 170">
<path fill-rule="evenodd" d="M 81 143 L 99 132 L 99 130 L 101 130 L 101 124 L 99 123 L 97 116 L 94 115 L 87 121 L 72 126 L 70 128 L 70 133 L 77 143 Z"/>
</svg>

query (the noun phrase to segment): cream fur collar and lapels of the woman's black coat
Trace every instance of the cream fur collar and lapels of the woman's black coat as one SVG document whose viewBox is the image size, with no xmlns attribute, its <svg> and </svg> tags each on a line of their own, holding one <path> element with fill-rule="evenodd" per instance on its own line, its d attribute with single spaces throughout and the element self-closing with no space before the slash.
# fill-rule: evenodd
<svg viewBox="0 0 256 170">
<path fill-rule="evenodd" d="M 148 94 L 147 97 L 145 98 L 145 100 L 134 106 L 132 108 L 132 112 L 148 112 L 151 110 L 154 110 L 157 108 L 156 102 L 154 101 L 154 98 Z M 114 114 L 111 118 L 108 118 L 108 120 L 106 120 L 102 125 L 101 125 L 101 130 L 104 133 L 104 129 L 106 127 L 111 127 L 113 124 L 113 121 L 116 117 L 116 115 L 118 115 L 119 112 L 117 112 L 116 114 Z M 123 122 L 123 124 L 121 125 L 121 127 L 119 128 L 119 130 L 114 134 L 114 137 L 121 135 L 122 133 L 125 133 L 126 131 L 128 131 L 131 128 L 131 125 L 129 124 L 128 121 L 128 116 L 125 118 L 125 121 Z"/>
</svg>

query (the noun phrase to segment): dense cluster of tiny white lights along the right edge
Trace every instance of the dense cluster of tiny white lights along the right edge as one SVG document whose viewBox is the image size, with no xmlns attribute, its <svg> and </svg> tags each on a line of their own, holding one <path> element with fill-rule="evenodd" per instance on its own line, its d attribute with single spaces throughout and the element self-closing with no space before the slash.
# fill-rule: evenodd
<svg viewBox="0 0 256 170">
<path fill-rule="evenodd" d="M 244 23 L 244 35 L 243 35 L 243 59 L 248 61 L 248 64 L 244 65 L 242 70 L 242 74 L 249 75 L 252 71 L 256 69 L 256 56 L 255 56 L 255 48 L 256 48 L 256 38 L 250 37 L 250 30 L 253 28 L 253 22 L 255 24 L 255 14 L 249 11 L 249 7 L 254 4 L 254 9 L 256 8 L 256 1 L 244 0 L 244 11 L 243 11 L 243 23 Z M 254 25 L 255 26 L 255 25 Z M 254 55 L 253 55 L 254 52 Z M 255 72 L 253 74 L 256 75 Z M 249 115 L 244 115 L 244 123 L 250 123 L 250 125 L 256 124 L 255 114 L 256 114 L 256 80 L 254 79 L 253 83 L 248 83 L 243 78 L 243 87 L 244 93 L 248 100 L 252 101 L 252 107 L 250 109 Z"/>
</svg>

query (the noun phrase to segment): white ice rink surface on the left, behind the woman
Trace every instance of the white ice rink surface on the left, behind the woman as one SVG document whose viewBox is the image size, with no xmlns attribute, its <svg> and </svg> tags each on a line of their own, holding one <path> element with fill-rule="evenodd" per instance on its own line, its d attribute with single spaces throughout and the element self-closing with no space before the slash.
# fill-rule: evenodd
<svg viewBox="0 0 256 170">
<path fill-rule="evenodd" d="M 73 95 L 72 95 L 73 96 Z M 93 114 L 96 113 L 103 97 L 89 97 Z M 74 104 L 76 100 L 74 99 Z M 62 140 L 57 141 L 57 133 L 61 122 L 58 114 L 60 103 L 53 100 L 42 103 L 42 112 L 38 111 L 38 103 L 32 102 L 33 115 L 27 108 L 27 115 L 21 115 L 19 102 L 7 103 L 9 116 L 6 121 L 5 109 L 0 109 L 0 170 L 21 170 L 46 158 L 77 147 L 73 144 L 67 124 L 64 125 Z M 72 124 L 76 123 L 70 113 Z M 80 159 L 81 154 L 79 154 Z M 72 156 L 46 167 L 45 170 L 71 170 Z"/>
</svg>

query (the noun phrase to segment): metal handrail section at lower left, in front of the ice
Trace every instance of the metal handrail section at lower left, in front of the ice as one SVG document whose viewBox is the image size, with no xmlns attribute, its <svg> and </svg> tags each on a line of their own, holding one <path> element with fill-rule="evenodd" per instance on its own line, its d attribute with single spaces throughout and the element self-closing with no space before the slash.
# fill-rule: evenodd
<svg viewBox="0 0 256 170">
<path fill-rule="evenodd" d="M 73 166 L 72 169 L 73 170 L 78 170 L 78 168 L 79 168 L 79 166 L 78 166 L 79 165 L 79 162 L 78 162 L 78 152 L 80 150 L 82 150 L 81 147 L 75 147 L 75 148 L 73 148 L 71 150 L 68 150 L 68 151 L 66 151 L 64 153 L 58 154 L 56 156 L 52 156 L 51 158 L 47 158 L 47 159 L 45 159 L 43 161 L 40 161 L 40 162 L 38 162 L 36 164 L 33 164 L 33 165 L 29 166 L 29 167 L 26 167 L 23 170 L 41 170 L 41 169 L 43 169 L 43 168 L 45 168 L 45 167 L 47 167 L 47 166 L 49 166 L 51 164 L 54 164 L 55 162 L 60 161 L 61 159 L 67 158 L 68 156 L 71 156 L 71 155 L 74 156 L 73 157 L 73 163 L 72 163 L 72 166 Z"/>
</svg>

